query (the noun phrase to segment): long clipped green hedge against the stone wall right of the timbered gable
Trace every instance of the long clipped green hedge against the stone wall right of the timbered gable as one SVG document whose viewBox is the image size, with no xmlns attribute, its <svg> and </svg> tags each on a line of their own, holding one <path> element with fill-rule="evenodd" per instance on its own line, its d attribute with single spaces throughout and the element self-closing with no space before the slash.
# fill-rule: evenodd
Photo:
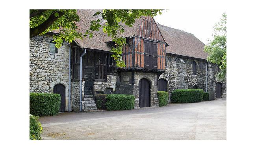
<svg viewBox="0 0 256 149">
<path fill-rule="evenodd" d="M 202 89 L 176 89 L 172 93 L 172 102 L 192 103 L 200 102 L 203 99 L 204 90 Z"/>
</svg>

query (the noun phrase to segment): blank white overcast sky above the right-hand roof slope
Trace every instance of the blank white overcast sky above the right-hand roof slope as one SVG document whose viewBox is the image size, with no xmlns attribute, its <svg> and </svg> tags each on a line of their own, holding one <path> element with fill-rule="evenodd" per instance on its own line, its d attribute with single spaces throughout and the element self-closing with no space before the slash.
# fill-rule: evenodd
<svg viewBox="0 0 256 149">
<path fill-rule="evenodd" d="M 204 44 L 208 44 L 207 39 L 213 39 L 213 26 L 220 21 L 224 12 L 221 9 L 169 9 L 162 11 L 162 15 L 155 16 L 154 19 L 161 25 L 192 33 Z"/>
</svg>

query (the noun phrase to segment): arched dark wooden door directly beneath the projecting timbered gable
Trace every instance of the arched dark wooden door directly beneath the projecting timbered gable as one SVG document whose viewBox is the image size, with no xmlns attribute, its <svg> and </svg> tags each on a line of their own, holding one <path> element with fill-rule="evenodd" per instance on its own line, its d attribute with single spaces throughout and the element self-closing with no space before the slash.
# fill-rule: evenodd
<svg viewBox="0 0 256 149">
<path fill-rule="evenodd" d="M 139 107 L 150 107 L 150 84 L 147 79 L 139 81 Z"/>
</svg>

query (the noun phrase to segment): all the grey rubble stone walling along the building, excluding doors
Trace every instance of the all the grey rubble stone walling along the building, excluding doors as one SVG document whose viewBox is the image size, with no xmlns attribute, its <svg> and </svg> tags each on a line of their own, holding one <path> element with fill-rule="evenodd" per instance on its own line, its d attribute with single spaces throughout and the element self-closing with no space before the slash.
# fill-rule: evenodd
<svg viewBox="0 0 256 149">
<path fill-rule="evenodd" d="M 41 42 L 43 39 L 43 42 Z M 50 53 L 49 45 L 52 40 L 51 35 L 36 36 L 30 38 L 30 92 L 53 93 L 56 84 L 65 86 L 66 111 L 68 111 L 68 89 L 69 89 L 69 45 L 64 42 L 58 49 L 58 53 Z M 174 89 L 188 89 L 197 85 L 198 88 L 206 91 L 206 61 L 180 58 L 167 54 L 167 66 L 165 73 L 160 78 L 168 81 L 167 90 L 171 94 Z M 192 73 L 192 62 L 197 63 L 197 74 Z M 217 82 L 222 84 L 222 97 L 226 97 L 226 80 L 217 79 L 217 65 L 208 63 L 207 90 L 215 90 Z M 150 106 L 158 107 L 157 98 L 157 74 L 134 72 L 134 82 L 132 82 L 132 72 L 121 72 L 118 75 L 108 75 L 105 82 L 91 81 L 92 76 L 89 71 L 88 77 L 82 82 L 82 101 L 86 91 L 91 91 L 91 86 L 86 86 L 89 82 L 93 85 L 93 94 L 120 93 L 133 94 L 135 96 L 135 108 L 139 107 L 139 80 L 146 78 L 150 82 Z M 90 77 L 89 77 L 90 76 Z M 87 83 L 86 83 L 87 81 Z M 80 111 L 80 89 L 79 81 L 71 82 L 71 109 Z M 87 87 L 87 88 L 86 88 Z M 85 95 L 85 96 L 84 96 Z"/>
</svg>

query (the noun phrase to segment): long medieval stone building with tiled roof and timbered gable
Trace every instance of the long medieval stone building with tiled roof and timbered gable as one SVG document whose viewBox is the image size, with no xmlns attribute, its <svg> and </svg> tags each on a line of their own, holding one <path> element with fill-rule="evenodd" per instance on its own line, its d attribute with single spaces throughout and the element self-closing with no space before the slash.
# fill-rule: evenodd
<svg viewBox="0 0 256 149">
<path fill-rule="evenodd" d="M 95 12 L 78 10 L 79 31 L 88 29 Z M 206 61 L 204 44 L 190 33 L 156 24 L 150 16 L 125 26 L 122 69 L 115 66 L 110 51 L 114 43 L 102 30 L 93 38 L 64 41 L 60 48 L 52 41 L 54 34 L 30 38 L 30 92 L 61 94 L 60 111 L 94 110 L 94 96 L 100 93 L 133 94 L 135 108 L 158 107 L 157 91 L 169 92 L 170 100 L 174 89 L 201 88 L 226 96 L 226 81 L 217 80 L 219 68 Z"/>
</svg>

